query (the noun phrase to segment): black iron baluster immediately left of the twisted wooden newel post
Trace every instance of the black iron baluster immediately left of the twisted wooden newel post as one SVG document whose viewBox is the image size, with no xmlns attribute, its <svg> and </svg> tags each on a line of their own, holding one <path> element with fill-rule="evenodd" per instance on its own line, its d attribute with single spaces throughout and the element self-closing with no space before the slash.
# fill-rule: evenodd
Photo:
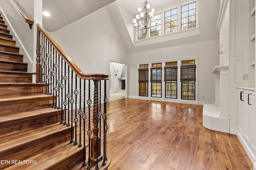
<svg viewBox="0 0 256 170">
<path fill-rule="evenodd" d="M 91 135 L 92 135 L 92 130 L 91 130 L 91 104 L 92 104 L 92 100 L 91 100 L 91 95 L 90 95 L 90 88 L 91 88 L 91 84 L 90 84 L 90 80 L 88 80 L 88 100 L 87 100 L 87 105 L 88 105 L 88 131 L 87 131 L 87 135 L 88 135 L 88 144 L 89 144 L 89 151 L 88 151 L 88 166 L 87 169 L 89 170 L 90 168 L 92 168 L 91 164 L 90 164 L 90 157 L 91 157 Z"/>
</svg>

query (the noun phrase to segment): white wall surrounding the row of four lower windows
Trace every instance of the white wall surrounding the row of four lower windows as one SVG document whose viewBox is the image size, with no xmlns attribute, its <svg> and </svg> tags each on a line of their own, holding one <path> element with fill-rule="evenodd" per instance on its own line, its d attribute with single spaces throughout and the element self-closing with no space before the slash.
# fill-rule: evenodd
<svg viewBox="0 0 256 170">
<path fill-rule="evenodd" d="M 216 39 L 129 54 L 128 96 L 138 96 L 138 63 L 198 57 L 198 101 L 199 104 L 200 102 L 213 103 L 215 101 L 215 79 L 212 70 L 219 62 L 218 43 L 219 39 Z M 148 86 L 150 86 L 150 83 Z M 164 98 L 164 95 L 162 96 Z M 203 99 L 202 96 L 205 96 L 205 98 Z"/>
</svg>

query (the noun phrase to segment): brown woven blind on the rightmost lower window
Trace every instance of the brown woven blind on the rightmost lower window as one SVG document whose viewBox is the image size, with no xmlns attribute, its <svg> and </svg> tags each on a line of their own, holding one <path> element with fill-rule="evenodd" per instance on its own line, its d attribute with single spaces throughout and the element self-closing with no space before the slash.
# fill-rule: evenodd
<svg viewBox="0 0 256 170">
<path fill-rule="evenodd" d="M 196 81 L 196 64 L 180 66 L 180 81 Z"/>
</svg>

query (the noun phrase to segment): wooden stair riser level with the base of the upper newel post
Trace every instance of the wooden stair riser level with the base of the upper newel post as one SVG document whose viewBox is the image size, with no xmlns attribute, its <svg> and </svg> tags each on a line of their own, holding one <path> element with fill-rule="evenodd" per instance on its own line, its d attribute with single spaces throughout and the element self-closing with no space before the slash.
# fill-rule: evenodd
<svg viewBox="0 0 256 170">
<path fill-rule="evenodd" d="M 32 83 L 32 74 L 0 72 L 0 83 Z"/>
</svg>

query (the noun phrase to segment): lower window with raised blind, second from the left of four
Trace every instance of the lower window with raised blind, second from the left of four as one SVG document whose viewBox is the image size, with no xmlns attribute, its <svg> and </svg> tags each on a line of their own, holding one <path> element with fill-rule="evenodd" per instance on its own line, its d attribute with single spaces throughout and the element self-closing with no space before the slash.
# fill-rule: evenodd
<svg viewBox="0 0 256 170">
<path fill-rule="evenodd" d="M 161 66 L 161 67 L 160 67 Z M 152 64 L 150 68 L 151 96 L 162 97 L 162 63 Z"/>
</svg>

